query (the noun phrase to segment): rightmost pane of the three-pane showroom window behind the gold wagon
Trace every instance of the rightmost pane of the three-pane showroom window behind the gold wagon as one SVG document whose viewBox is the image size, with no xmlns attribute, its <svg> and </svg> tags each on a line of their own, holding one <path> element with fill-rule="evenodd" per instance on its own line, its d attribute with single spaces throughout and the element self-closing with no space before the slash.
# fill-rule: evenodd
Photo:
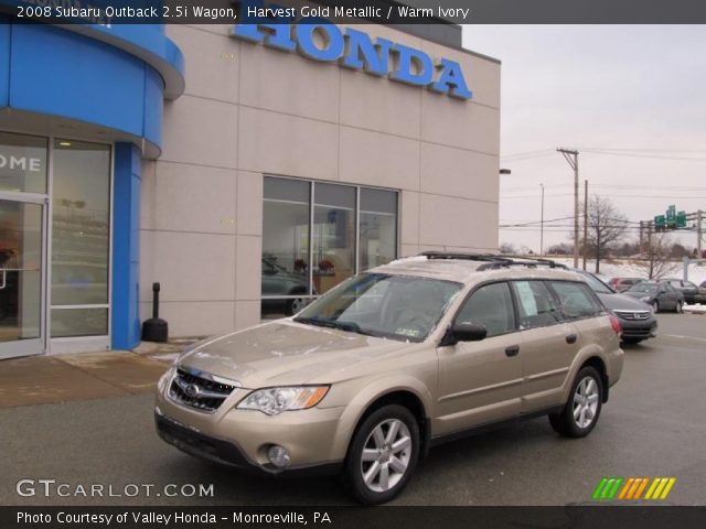
<svg viewBox="0 0 706 529">
<path fill-rule="evenodd" d="M 397 193 L 361 190 L 361 271 L 397 256 Z"/>
</svg>

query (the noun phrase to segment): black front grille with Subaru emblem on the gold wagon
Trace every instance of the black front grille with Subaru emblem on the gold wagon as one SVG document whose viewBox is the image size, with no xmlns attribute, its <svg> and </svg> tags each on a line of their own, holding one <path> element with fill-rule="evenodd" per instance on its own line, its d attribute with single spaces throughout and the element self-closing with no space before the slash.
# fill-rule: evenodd
<svg viewBox="0 0 706 529">
<path fill-rule="evenodd" d="M 237 382 L 225 384 L 206 373 L 179 367 L 169 387 L 169 397 L 182 406 L 213 413 L 237 387 Z"/>
</svg>

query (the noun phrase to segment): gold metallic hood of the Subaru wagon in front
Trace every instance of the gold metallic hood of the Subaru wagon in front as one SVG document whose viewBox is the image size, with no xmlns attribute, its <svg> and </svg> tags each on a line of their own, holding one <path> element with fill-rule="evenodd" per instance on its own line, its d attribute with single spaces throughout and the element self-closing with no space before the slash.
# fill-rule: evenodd
<svg viewBox="0 0 706 529">
<path fill-rule="evenodd" d="M 216 337 L 181 355 L 179 364 L 248 389 L 331 384 L 347 379 L 362 363 L 403 354 L 409 346 L 285 320 Z"/>
</svg>

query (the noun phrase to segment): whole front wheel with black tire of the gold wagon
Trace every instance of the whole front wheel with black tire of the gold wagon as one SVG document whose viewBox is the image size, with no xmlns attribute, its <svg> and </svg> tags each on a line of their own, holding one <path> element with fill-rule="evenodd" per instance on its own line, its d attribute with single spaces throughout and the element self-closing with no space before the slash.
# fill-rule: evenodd
<svg viewBox="0 0 706 529">
<path fill-rule="evenodd" d="M 397 451 L 395 444 L 400 446 Z M 389 404 L 371 413 L 353 435 L 345 458 L 344 478 L 355 499 L 378 505 L 397 496 L 415 472 L 419 444 L 419 425 L 404 406 Z M 364 451 L 368 461 L 363 461 Z"/>
</svg>

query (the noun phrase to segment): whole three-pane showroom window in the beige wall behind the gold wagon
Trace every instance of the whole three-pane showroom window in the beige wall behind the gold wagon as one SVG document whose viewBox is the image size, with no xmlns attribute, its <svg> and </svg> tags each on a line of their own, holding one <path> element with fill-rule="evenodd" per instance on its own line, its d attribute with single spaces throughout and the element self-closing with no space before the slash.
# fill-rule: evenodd
<svg viewBox="0 0 706 529">
<path fill-rule="evenodd" d="M 263 315 L 296 313 L 357 271 L 395 259 L 397 196 L 265 176 Z"/>
</svg>

